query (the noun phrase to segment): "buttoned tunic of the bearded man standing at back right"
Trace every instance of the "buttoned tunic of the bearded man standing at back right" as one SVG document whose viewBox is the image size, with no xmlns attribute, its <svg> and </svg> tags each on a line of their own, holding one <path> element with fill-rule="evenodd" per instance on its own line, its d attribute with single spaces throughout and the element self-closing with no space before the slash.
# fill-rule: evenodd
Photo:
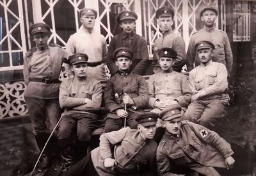
<svg viewBox="0 0 256 176">
<path fill-rule="evenodd" d="M 200 60 L 196 55 L 195 44 L 203 40 L 212 42 L 215 45 L 212 61 L 223 63 L 227 67 L 228 76 L 230 76 L 233 63 L 230 42 L 227 33 L 216 28 L 210 30 L 203 28 L 191 35 L 187 52 L 188 72 L 194 68 L 194 62 L 195 67 L 200 65 Z"/>
</svg>

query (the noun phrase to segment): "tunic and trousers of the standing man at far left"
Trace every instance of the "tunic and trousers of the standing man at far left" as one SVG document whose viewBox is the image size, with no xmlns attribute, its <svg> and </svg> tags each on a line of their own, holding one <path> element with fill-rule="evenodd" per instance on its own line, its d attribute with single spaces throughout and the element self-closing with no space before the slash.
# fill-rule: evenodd
<svg viewBox="0 0 256 176">
<path fill-rule="evenodd" d="M 67 58 L 65 50 L 55 44 L 49 44 L 45 51 L 33 47 L 26 52 L 23 75 L 27 87 L 24 98 L 33 124 L 33 132 L 36 135 L 47 132 L 46 121 L 50 131 L 52 131 L 60 118 L 60 104 L 58 102 L 60 83 L 57 81 L 65 58 Z M 56 80 L 54 81 L 56 83 L 31 81 L 31 78 Z"/>
</svg>

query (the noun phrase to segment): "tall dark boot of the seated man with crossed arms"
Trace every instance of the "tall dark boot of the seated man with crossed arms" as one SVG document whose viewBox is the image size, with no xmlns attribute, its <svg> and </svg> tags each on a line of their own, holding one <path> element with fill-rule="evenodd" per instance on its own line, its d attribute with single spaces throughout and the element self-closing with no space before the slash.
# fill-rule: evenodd
<svg viewBox="0 0 256 176">
<path fill-rule="evenodd" d="M 61 159 L 63 161 L 62 170 L 67 170 L 76 163 L 74 150 L 72 148 L 72 140 L 70 138 L 58 139 L 58 145 L 60 147 Z"/>
</svg>

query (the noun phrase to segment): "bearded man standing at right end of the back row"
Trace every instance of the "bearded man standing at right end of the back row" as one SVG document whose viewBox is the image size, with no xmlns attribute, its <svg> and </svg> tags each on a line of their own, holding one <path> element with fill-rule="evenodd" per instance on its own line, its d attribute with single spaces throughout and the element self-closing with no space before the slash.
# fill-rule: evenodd
<svg viewBox="0 0 256 176">
<path fill-rule="evenodd" d="M 200 12 L 200 19 L 204 22 L 204 28 L 196 31 L 191 35 L 188 52 L 187 52 L 187 67 L 190 72 L 194 66 L 200 65 L 200 60 L 196 56 L 195 44 L 200 41 L 207 40 L 214 44 L 214 52 L 212 61 L 223 63 L 227 67 L 228 77 L 232 71 L 233 56 L 228 40 L 227 33 L 216 29 L 215 20 L 218 17 L 218 10 L 215 6 L 204 6 Z"/>
</svg>

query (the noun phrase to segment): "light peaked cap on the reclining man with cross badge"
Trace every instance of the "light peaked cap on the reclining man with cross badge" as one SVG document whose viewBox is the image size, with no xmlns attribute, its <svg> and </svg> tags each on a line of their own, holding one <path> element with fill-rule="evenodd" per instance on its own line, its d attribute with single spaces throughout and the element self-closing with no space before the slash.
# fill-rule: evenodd
<svg viewBox="0 0 256 176">
<path fill-rule="evenodd" d="M 181 116 L 181 106 L 179 104 L 173 104 L 171 106 L 167 106 L 160 113 L 159 116 L 163 120 L 172 120 L 174 118 Z"/>
</svg>

